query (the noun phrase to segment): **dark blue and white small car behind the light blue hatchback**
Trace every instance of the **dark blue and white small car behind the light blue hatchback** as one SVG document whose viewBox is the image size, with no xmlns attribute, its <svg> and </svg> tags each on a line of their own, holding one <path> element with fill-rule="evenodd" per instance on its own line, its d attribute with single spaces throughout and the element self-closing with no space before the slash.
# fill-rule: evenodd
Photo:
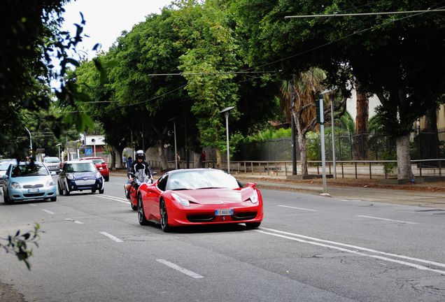
<svg viewBox="0 0 445 302">
<path fill-rule="evenodd" d="M 57 180 L 60 195 L 73 191 L 91 190 L 104 194 L 104 178 L 92 161 L 65 161 Z"/>
</svg>

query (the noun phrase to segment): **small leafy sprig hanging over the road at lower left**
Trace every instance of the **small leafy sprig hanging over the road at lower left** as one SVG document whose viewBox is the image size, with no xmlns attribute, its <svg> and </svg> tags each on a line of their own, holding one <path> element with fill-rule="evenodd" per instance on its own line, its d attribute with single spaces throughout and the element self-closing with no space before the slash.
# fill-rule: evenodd
<svg viewBox="0 0 445 302">
<path fill-rule="evenodd" d="M 31 266 L 29 264 L 29 257 L 32 256 L 32 250 L 29 245 L 36 245 L 38 247 L 37 240 L 40 238 L 39 236 L 40 224 L 34 225 L 34 231 L 28 231 L 27 233 L 20 233 L 20 230 L 15 233 L 15 236 L 8 236 L 8 238 L 0 237 L 0 247 L 3 247 L 3 250 L 6 253 L 14 253 L 20 261 L 24 261 L 27 268 L 31 271 Z M 6 241 L 7 243 L 2 243 L 2 241 Z"/>
</svg>

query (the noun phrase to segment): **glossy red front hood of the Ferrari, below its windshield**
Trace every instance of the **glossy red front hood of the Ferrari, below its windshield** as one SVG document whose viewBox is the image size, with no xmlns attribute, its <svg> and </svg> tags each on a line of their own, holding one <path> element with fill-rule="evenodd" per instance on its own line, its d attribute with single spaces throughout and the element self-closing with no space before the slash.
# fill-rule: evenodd
<svg viewBox="0 0 445 302">
<path fill-rule="evenodd" d="M 187 191 L 171 191 L 188 201 L 199 204 L 240 203 L 253 194 L 251 187 L 241 189 L 192 189 Z"/>
</svg>

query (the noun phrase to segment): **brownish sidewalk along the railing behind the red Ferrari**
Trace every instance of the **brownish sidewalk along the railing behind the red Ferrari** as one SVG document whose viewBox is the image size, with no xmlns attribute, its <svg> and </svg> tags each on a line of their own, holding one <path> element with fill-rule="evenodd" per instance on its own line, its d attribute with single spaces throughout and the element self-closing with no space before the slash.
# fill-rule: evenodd
<svg viewBox="0 0 445 302">
<path fill-rule="evenodd" d="M 123 171 L 111 171 L 111 175 L 125 174 Z M 162 172 L 158 172 L 159 178 Z M 243 185 L 255 182 L 258 188 L 285 189 L 308 194 L 322 194 L 323 180 L 289 180 L 285 176 L 260 175 L 259 173 L 234 173 Z M 328 178 L 327 198 L 360 200 L 381 203 L 397 203 L 425 208 L 445 209 L 445 181 L 414 183 L 407 185 L 383 185 L 379 179 L 365 178 Z"/>
</svg>

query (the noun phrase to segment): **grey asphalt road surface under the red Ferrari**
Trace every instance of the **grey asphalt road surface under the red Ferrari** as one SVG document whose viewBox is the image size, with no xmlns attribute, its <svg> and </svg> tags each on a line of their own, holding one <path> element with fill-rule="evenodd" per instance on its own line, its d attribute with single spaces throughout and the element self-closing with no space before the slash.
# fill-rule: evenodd
<svg viewBox="0 0 445 302">
<path fill-rule="evenodd" d="M 44 231 L 31 271 L 0 252 L 3 291 L 16 301 L 445 301 L 445 210 L 262 189 L 259 229 L 164 233 L 139 225 L 124 183 L 0 203 L 1 238 L 35 222 Z"/>
</svg>

